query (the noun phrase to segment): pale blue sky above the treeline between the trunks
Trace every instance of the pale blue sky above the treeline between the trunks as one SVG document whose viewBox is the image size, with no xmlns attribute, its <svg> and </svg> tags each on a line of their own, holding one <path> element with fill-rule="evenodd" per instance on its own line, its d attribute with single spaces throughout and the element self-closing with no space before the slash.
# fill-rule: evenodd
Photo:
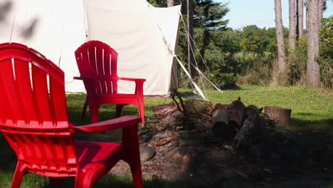
<svg viewBox="0 0 333 188">
<path fill-rule="evenodd" d="M 244 26 L 256 25 L 259 28 L 275 27 L 274 0 L 216 0 L 228 3 L 230 11 L 223 19 L 228 19 L 228 27 L 238 29 Z M 324 11 L 324 18 L 333 16 L 333 3 L 327 1 L 328 9 Z M 282 23 L 289 27 L 288 0 L 281 0 Z M 305 9 L 304 9 L 305 11 Z M 305 16 L 305 13 L 304 13 Z M 305 18 L 305 17 L 304 17 Z M 305 26 L 305 25 L 304 25 Z"/>
</svg>

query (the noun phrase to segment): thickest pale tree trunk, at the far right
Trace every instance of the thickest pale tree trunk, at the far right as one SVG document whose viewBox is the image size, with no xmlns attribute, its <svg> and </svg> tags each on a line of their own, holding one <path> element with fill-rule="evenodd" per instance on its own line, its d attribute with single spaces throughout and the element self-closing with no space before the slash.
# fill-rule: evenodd
<svg viewBox="0 0 333 188">
<path fill-rule="evenodd" d="M 320 86 L 319 63 L 319 0 L 307 0 L 307 85 Z"/>
</svg>

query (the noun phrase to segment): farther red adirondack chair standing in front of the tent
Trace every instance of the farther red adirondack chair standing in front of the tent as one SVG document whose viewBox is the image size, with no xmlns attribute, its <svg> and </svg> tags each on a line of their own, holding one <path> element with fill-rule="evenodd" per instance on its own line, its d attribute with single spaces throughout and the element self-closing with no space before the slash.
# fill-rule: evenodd
<svg viewBox="0 0 333 188">
<path fill-rule="evenodd" d="M 83 105 L 82 119 L 87 105 L 91 122 L 98 121 L 98 109 L 102 104 L 116 104 L 115 117 L 120 117 L 122 107 L 128 104 L 137 106 L 141 123 L 144 123 L 143 83 L 145 79 L 120 78 L 117 75 L 117 52 L 101 41 L 88 41 L 75 51 L 76 62 L 83 80 L 87 98 Z M 135 82 L 133 94 L 118 93 L 118 80 Z"/>
</svg>

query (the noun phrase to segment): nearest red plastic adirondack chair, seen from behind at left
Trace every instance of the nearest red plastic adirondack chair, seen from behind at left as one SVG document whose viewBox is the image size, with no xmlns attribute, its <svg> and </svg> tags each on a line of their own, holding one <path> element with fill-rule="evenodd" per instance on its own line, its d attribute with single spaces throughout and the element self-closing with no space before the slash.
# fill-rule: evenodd
<svg viewBox="0 0 333 188">
<path fill-rule="evenodd" d="M 91 185 L 125 160 L 135 187 L 142 187 L 137 125 L 124 116 L 85 126 L 68 122 L 64 74 L 41 53 L 18 43 L 0 44 L 0 130 L 17 156 L 11 187 L 26 173 L 50 178 L 75 177 L 75 187 Z M 77 131 L 122 128 L 122 143 L 73 140 Z"/>
</svg>

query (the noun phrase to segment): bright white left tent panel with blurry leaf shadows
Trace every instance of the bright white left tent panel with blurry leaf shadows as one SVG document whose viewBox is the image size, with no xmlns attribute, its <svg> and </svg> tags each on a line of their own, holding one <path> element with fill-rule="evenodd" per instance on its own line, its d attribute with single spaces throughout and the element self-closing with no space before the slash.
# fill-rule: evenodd
<svg viewBox="0 0 333 188">
<path fill-rule="evenodd" d="M 23 43 L 65 72 L 66 91 L 85 91 L 74 51 L 86 41 L 80 0 L 7 0 L 0 2 L 0 43 Z"/>
</svg>

